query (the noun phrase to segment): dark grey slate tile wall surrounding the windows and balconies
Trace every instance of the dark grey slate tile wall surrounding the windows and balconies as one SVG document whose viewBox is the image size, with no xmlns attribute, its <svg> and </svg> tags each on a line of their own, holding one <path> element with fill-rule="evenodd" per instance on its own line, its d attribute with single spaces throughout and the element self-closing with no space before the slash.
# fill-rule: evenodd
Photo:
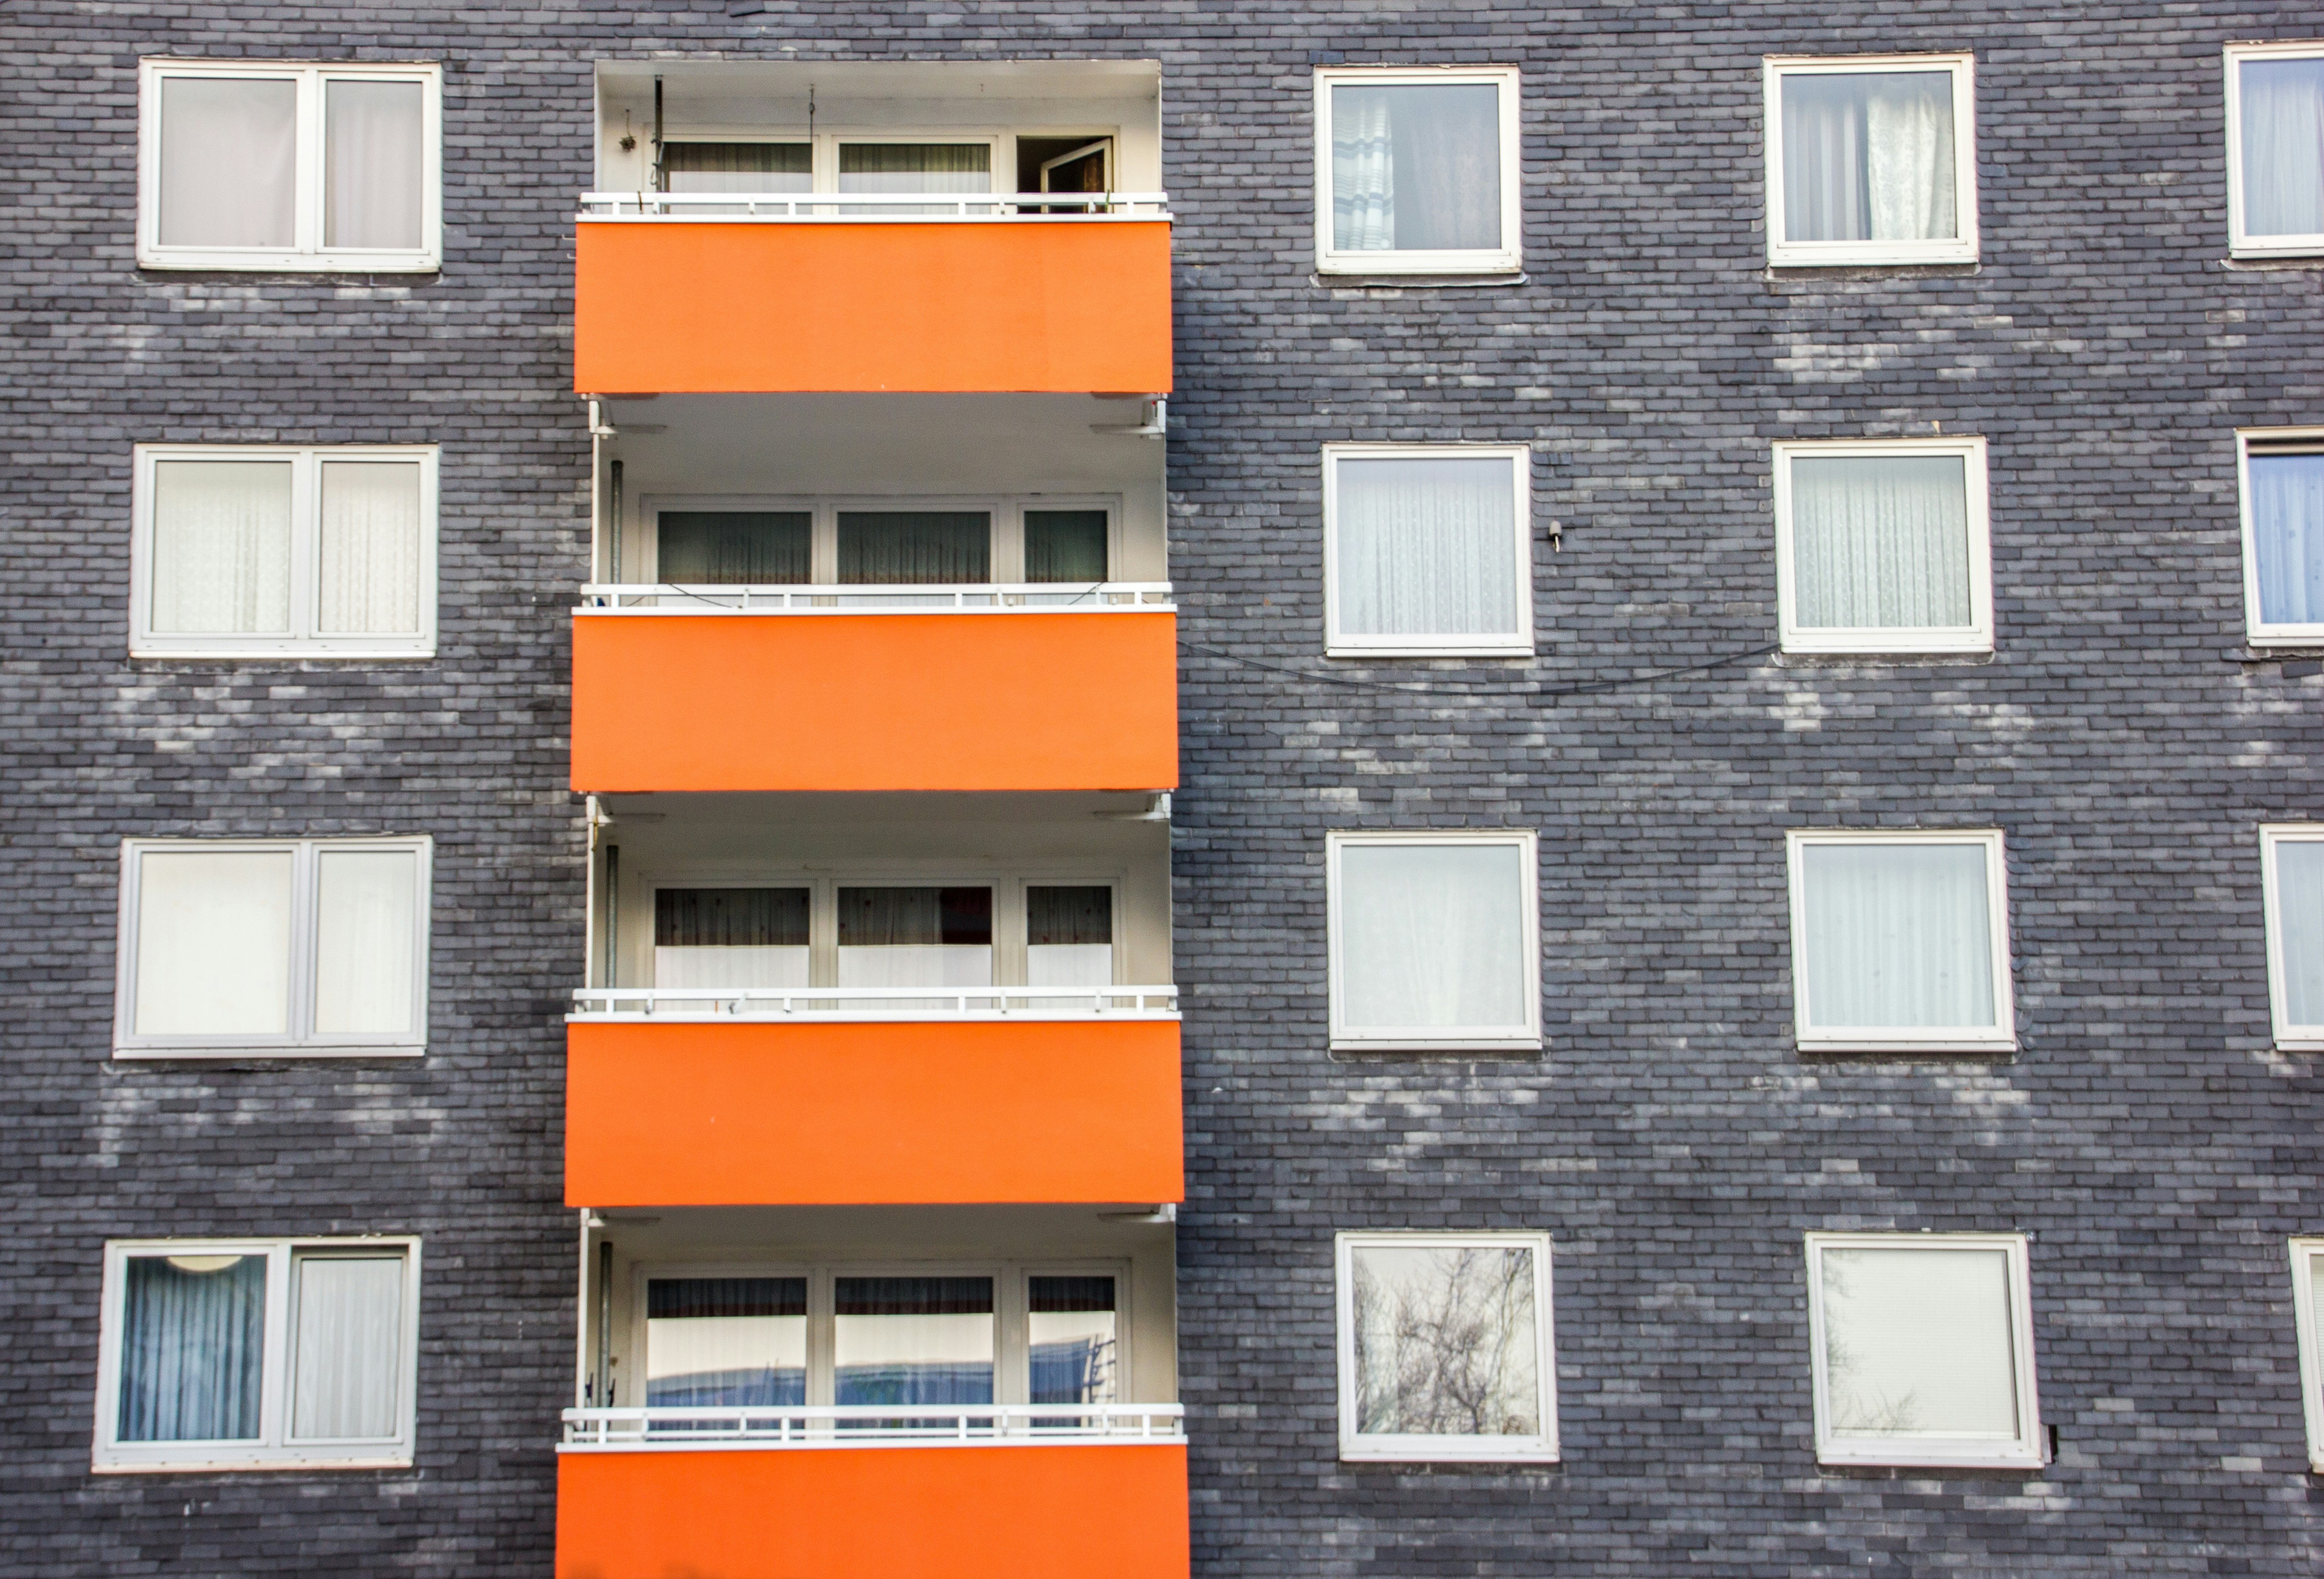
<svg viewBox="0 0 2324 1579">
<path fill-rule="evenodd" d="M 727 0 L 0 21 L 0 126 L 37 177 L 0 230 L 0 1567 L 546 1572 L 572 1356 L 555 993 L 581 900 L 565 216 L 588 60 L 727 51 L 1164 60 L 1199 1574 L 2312 1574 L 2284 1237 L 2324 1228 L 2324 1091 L 2268 1046 L 2254 828 L 2324 819 L 2324 679 L 2245 660 L 2231 430 L 2324 421 L 2324 272 L 2222 263 L 2219 44 L 2324 21 L 1834 16 Z M 1908 49 L 1978 53 L 1982 267 L 1771 279 L 1759 56 Z M 444 58 L 444 274 L 137 274 L 135 60 L 160 51 Z M 1522 286 L 1311 279 L 1322 51 L 1525 67 Z M 1631 684 L 1773 642 L 1771 440 L 1931 423 L 1992 446 L 1992 660 L 1748 656 Z M 121 656 L 128 444 L 267 437 L 446 446 L 437 663 Z M 1322 660 L 1318 444 L 1422 437 L 1534 444 L 1538 660 Z M 1322 835 L 1418 823 L 1541 830 L 1543 1058 L 1327 1056 Z M 1792 826 L 2003 828 L 2024 1051 L 1799 1058 Z M 430 1058 L 109 1065 L 119 837 L 277 828 L 437 837 Z M 1332 1230 L 1399 1226 L 1555 1233 L 1562 1467 L 1336 1463 Z M 88 1477 L 105 1237 L 346 1228 L 428 1237 L 411 1474 Z M 1817 1472 L 1813 1228 L 2029 1233 L 2059 1463 Z"/>
</svg>

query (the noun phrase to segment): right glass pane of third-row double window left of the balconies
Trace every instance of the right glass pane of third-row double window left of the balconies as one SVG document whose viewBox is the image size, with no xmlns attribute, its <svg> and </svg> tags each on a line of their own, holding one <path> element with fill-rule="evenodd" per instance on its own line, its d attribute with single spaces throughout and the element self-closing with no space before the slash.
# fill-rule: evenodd
<svg viewBox="0 0 2324 1579">
<path fill-rule="evenodd" d="M 325 849 L 316 856 L 318 1033 L 411 1033 L 418 998 L 418 851 Z"/>
</svg>

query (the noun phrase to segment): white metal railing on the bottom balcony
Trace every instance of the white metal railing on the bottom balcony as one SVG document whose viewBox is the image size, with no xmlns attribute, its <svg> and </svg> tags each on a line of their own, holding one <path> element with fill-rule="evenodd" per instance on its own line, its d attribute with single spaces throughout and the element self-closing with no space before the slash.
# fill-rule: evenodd
<svg viewBox="0 0 2324 1579">
<path fill-rule="evenodd" d="M 911 1409 L 906 1419 L 899 1412 Z M 565 1449 L 1043 1446 L 1183 1442 L 1185 1405 L 767 1405 L 567 1409 Z"/>
</svg>

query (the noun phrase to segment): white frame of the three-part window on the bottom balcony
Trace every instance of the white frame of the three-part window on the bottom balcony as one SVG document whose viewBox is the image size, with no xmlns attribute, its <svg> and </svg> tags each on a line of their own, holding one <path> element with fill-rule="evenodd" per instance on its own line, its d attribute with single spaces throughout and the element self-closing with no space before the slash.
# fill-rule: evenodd
<svg viewBox="0 0 2324 1579">
<path fill-rule="evenodd" d="M 637 1398 L 616 1407 L 644 1409 L 644 1386 L 648 1374 L 648 1293 L 646 1286 L 667 1279 L 695 1277 L 797 1277 L 806 1281 L 806 1407 L 827 1407 L 839 1393 L 839 1314 L 837 1284 L 844 1277 L 990 1277 L 992 1279 L 992 1402 L 1032 1402 L 1032 1279 L 1034 1277 L 1111 1277 L 1113 1279 L 1113 1332 L 1118 1402 L 1141 1402 L 1136 1398 L 1132 1363 L 1132 1328 L 1136 1309 L 1129 1291 L 1129 1260 L 639 1260 L 630 1267 L 630 1314 L 616 1316 L 618 1330 L 627 1335 L 627 1358 L 616 1372 L 637 1377 Z M 588 1328 L 595 1319 L 588 1319 Z M 616 1374 L 616 1398 L 625 1377 Z M 932 1414 L 957 1414 L 962 1405 L 930 1405 Z M 983 1405 L 974 1405 L 983 1407 Z M 1057 1405 L 1060 1412 L 1071 1405 Z"/>
</svg>

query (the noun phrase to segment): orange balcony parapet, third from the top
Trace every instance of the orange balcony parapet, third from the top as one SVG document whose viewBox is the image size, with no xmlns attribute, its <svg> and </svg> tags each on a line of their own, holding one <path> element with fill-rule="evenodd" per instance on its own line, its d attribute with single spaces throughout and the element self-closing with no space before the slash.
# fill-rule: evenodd
<svg viewBox="0 0 2324 1579">
<path fill-rule="evenodd" d="M 574 1207 L 1181 1200 L 1178 1021 L 565 1028 Z"/>
</svg>

